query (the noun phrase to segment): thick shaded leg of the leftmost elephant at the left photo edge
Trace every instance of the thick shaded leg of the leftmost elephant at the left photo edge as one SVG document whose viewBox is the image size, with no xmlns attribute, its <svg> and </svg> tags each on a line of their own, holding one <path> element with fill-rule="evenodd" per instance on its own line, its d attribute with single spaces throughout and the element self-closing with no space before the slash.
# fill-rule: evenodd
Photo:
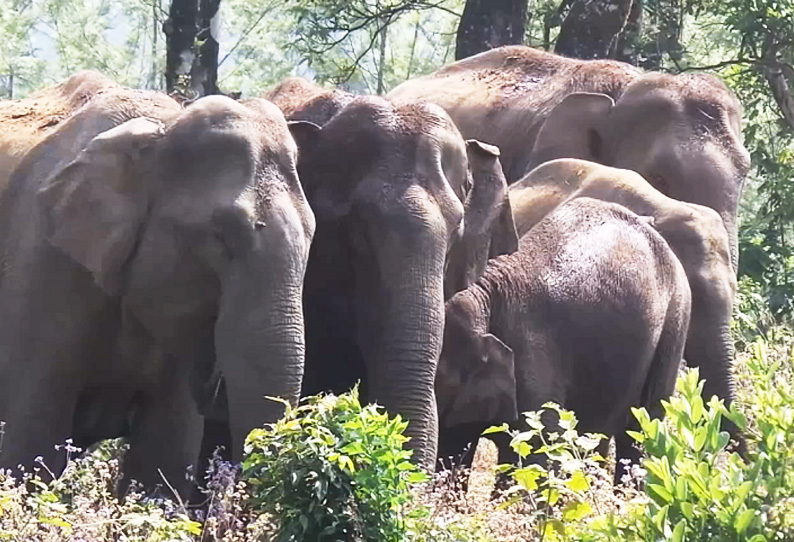
<svg viewBox="0 0 794 542">
<path fill-rule="evenodd" d="M 0 420 L 6 422 L 0 467 L 28 468 L 41 456 L 60 474 L 66 457 L 54 446 L 75 436 L 78 397 L 101 368 L 98 361 L 112 357 L 116 303 L 71 266 L 64 256 L 29 270 L 20 291 L 35 296 L 0 292 Z"/>
</svg>

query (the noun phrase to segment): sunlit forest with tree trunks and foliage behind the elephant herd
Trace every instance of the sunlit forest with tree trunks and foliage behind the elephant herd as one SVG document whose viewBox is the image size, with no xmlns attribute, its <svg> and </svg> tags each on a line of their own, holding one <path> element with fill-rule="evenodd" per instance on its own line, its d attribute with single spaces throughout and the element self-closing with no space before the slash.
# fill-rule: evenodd
<svg viewBox="0 0 794 542">
<path fill-rule="evenodd" d="M 0 0 L 0 98 L 84 68 L 187 97 L 289 75 L 383 94 L 513 43 L 721 76 L 753 160 L 737 327 L 794 318 L 794 0 Z"/>
</svg>

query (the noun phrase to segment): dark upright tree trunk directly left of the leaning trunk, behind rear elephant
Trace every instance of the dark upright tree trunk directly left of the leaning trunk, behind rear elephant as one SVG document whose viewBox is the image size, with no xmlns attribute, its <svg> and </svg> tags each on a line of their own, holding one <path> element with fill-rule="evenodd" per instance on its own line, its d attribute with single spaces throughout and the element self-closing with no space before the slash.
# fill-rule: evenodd
<svg viewBox="0 0 794 542">
<path fill-rule="evenodd" d="M 455 60 L 524 42 L 528 0 L 467 0 L 458 25 Z"/>
</svg>

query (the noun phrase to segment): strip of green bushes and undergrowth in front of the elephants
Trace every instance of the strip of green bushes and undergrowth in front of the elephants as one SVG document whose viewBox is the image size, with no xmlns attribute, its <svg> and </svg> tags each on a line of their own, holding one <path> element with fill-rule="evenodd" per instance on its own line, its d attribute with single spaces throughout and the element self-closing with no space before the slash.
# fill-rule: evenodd
<svg viewBox="0 0 794 542">
<path fill-rule="evenodd" d="M 362 406 L 354 390 L 306 399 L 252 432 L 242 472 L 214 465 L 201 510 L 136 492 L 116 499 L 120 464 L 107 447 L 72 459 L 57 479 L 43 465 L 22 479 L 0 473 L 0 540 L 794 540 L 794 341 L 775 337 L 740 357 L 736 408 L 704 402 L 688 371 L 663 420 L 636 410 L 647 458 L 617 490 L 597 436 L 579 435 L 576 418 L 553 405 L 556 435 L 539 413 L 514 433 L 523 464 L 501 504 L 479 482 L 468 495 L 439 478 L 420 482 L 402 449 L 405 422 Z M 726 416 L 746 427 L 746 461 L 719 430 Z"/>
</svg>

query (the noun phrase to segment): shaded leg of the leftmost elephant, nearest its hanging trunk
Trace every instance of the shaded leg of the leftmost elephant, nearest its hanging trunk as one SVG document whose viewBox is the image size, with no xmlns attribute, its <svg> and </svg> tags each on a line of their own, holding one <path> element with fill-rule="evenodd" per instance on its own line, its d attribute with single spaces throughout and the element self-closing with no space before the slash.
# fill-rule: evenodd
<svg viewBox="0 0 794 542">
<path fill-rule="evenodd" d="M 123 486 L 130 480 L 146 488 L 169 485 L 187 498 L 190 481 L 186 471 L 196 467 L 204 419 L 188 379 L 176 367 L 171 369 L 170 378 L 142 397 L 135 412 L 130 449 L 124 459 Z"/>
</svg>

